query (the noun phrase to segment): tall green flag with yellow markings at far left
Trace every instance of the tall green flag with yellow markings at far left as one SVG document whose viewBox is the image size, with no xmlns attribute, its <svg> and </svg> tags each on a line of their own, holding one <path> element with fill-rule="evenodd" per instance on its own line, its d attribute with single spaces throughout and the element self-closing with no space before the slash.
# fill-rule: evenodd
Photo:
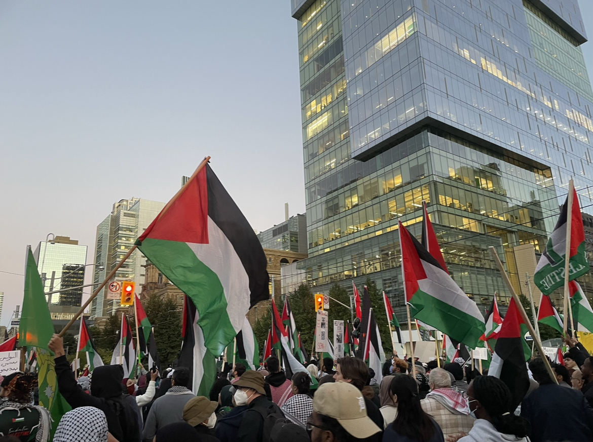
<svg viewBox="0 0 593 442">
<path fill-rule="evenodd" d="M 58 391 L 53 353 L 47 348 L 53 335 L 52 317 L 49 314 L 45 293 L 31 247 L 27 247 L 25 265 L 25 293 L 23 314 L 18 329 L 19 345 L 37 347 L 37 369 L 39 370 L 39 405 L 52 415 L 52 438 L 62 416 L 72 408 Z"/>
</svg>

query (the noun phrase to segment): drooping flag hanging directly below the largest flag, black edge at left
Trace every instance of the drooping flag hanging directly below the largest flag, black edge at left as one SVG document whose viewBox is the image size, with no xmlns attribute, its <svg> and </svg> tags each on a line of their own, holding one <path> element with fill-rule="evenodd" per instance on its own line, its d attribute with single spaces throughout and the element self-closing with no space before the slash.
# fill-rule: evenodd
<svg viewBox="0 0 593 442">
<path fill-rule="evenodd" d="M 181 334 L 178 366 L 187 367 L 191 373 L 187 388 L 196 396 L 208 397 L 216 380 L 216 358 L 206 348 L 196 306 L 188 295 L 183 301 Z"/>
</svg>

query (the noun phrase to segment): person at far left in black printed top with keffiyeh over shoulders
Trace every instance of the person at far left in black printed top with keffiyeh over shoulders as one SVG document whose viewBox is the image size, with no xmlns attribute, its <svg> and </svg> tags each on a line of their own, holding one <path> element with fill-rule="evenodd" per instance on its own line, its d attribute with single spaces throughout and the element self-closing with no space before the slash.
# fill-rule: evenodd
<svg viewBox="0 0 593 442">
<path fill-rule="evenodd" d="M 42 406 L 33 405 L 33 389 L 36 385 L 37 379 L 33 374 L 20 371 L 2 379 L 0 396 L 4 399 L 0 402 L 1 435 L 12 435 L 23 442 L 49 440 L 49 412 Z M 18 424 L 15 425 L 15 422 Z"/>
</svg>

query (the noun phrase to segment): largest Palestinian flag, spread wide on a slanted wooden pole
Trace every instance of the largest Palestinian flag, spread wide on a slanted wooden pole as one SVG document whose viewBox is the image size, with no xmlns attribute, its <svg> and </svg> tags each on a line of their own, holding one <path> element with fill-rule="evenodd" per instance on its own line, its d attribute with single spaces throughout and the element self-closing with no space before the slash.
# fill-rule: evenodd
<svg viewBox="0 0 593 442">
<path fill-rule="evenodd" d="M 211 354 L 221 354 L 241 331 L 249 308 L 270 297 L 262 245 L 208 164 L 136 245 L 190 297 Z"/>
</svg>

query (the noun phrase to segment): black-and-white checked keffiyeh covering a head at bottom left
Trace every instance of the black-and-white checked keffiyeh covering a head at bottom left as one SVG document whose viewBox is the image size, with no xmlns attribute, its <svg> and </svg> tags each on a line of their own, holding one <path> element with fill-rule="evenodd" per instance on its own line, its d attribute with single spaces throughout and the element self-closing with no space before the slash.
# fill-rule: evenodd
<svg viewBox="0 0 593 442">
<path fill-rule="evenodd" d="M 62 416 L 53 442 L 107 442 L 107 418 L 94 406 L 81 406 Z"/>
</svg>

